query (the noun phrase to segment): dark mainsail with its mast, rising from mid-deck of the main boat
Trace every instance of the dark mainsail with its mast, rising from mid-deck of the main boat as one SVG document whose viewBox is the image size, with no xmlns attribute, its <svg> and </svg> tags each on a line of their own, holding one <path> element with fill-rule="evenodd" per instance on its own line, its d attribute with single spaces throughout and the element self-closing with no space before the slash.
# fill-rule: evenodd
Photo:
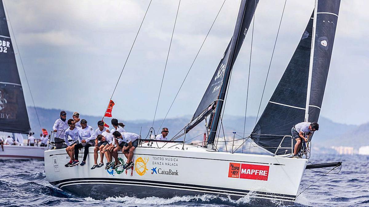
<svg viewBox="0 0 369 207">
<path fill-rule="evenodd" d="M 238 56 L 239 50 L 241 49 L 242 43 L 244 42 L 258 2 L 259 0 L 241 0 L 232 39 L 218 64 L 217 70 L 215 70 L 213 78 L 211 79 L 205 94 L 190 121 L 190 124 L 186 127 L 186 132 L 188 132 L 211 112 L 214 112 L 214 115 L 212 116 L 213 118 L 210 120 L 211 129 L 208 139 L 209 144 L 214 142 L 231 70 Z"/>
</svg>

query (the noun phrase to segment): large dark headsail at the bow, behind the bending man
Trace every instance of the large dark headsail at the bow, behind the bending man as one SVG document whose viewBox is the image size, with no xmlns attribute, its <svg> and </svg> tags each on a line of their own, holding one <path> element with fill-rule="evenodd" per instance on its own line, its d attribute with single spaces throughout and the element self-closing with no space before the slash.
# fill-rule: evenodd
<svg viewBox="0 0 369 207">
<path fill-rule="evenodd" d="M 283 136 L 291 135 L 291 128 L 295 124 L 304 120 L 318 121 L 331 61 L 339 4 L 340 0 L 324 0 L 315 4 L 316 14 L 311 16 L 286 71 L 252 131 L 252 140 L 270 152 L 276 152 Z M 314 16 L 316 29 L 313 38 Z M 290 137 L 284 139 L 281 147 L 291 147 Z M 277 154 L 282 152 L 292 153 L 290 150 L 286 152 L 280 149 Z"/>
</svg>

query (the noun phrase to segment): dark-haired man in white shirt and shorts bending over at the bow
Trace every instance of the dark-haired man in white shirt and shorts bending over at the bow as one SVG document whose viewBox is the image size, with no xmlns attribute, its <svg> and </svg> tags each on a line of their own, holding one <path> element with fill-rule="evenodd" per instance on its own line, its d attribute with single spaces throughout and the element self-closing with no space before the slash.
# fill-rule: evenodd
<svg viewBox="0 0 369 207">
<path fill-rule="evenodd" d="M 319 130 L 319 124 L 317 122 L 301 122 L 292 127 L 292 137 L 296 140 L 293 157 L 298 158 L 297 153 L 301 150 L 301 141 L 304 140 L 305 142 L 308 142 L 311 133 L 317 130 Z M 305 133 L 307 133 L 307 138 L 304 137 Z"/>
</svg>

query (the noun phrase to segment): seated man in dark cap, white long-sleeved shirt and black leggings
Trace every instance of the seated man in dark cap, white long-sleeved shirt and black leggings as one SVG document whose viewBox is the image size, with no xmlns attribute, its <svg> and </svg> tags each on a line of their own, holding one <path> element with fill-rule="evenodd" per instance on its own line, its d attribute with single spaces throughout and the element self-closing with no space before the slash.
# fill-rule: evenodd
<svg viewBox="0 0 369 207">
<path fill-rule="evenodd" d="M 72 162 L 70 166 L 75 166 L 79 164 L 78 152 L 79 152 L 79 149 L 83 147 L 85 148 L 85 152 L 83 154 L 83 161 L 81 162 L 80 166 L 86 165 L 86 158 L 87 158 L 87 155 L 89 154 L 89 147 L 92 147 L 95 145 L 95 138 L 96 138 L 95 132 L 92 129 L 92 127 L 87 126 L 86 119 L 81 120 L 81 126 L 82 127 L 78 129 L 79 144 L 74 145 L 74 161 Z"/>
</svg>

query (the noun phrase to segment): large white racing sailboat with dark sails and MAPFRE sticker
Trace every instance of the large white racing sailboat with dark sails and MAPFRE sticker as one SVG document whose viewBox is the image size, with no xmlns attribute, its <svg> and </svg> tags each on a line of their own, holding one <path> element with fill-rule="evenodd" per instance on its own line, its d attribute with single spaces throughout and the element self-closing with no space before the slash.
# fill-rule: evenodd
<svg viewBox="0 0 369 207">
<path fill-rule="evenodd" d="M 293 204 L 305 169 L 340 164 L 307 165 L 308 159 L 288 157 L 294 141 L 292 126 L 304 120 L 318 120 L 340 1 L 315 2 L 296 52 L 252 131 L 252 140 L 271 155 L 221 152 L 214 143 L 230 73 L 257 4 L 258 0 L 241 0 L 231 41 L 196 112 L 184 127 L 186 134 L 207 119 L 210 130 L 206 145 L 141 139 L 134 152 L 134 166 L 127 171 L 65 168 L 63 165 L 69 161 L 65 150 L 47 150 L 46 179 L 66 192 L 94 199 L 215 194 L 249 196 L 261 203 Z M 306 105 L 297 103 L 297 99 L 306 100 Z M 156 144 L 150 145 L 152 142 Z M 92 156 L 87 163 L 93 163 Z"/>
</svg>

